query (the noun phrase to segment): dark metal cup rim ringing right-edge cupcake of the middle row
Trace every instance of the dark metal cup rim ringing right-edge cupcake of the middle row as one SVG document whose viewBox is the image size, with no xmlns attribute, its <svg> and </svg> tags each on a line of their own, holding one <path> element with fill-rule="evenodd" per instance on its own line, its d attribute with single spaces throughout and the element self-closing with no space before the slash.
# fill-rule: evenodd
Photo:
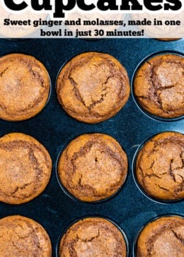
<svg viewBox="0 0 184 257">
<path fill-rule="evenodd" d="M 177 132 L 177 131 L 162 131 L 161 133 L 164 132 Z M 179 132 L 180 133 L 180 132 Z M 136 152 L 134 153 L 134 157 L 132 160 L 132 174 L 133 174 L 133 178 L 134 178 L 134 183 L 136 184 L 137 188 L 139 189 L 139 191 L 141 193 L 143 193 L 144 196 L 146 196 L 146 198 L 149 198 L 149 200 L 154 201 L 155 203 L 162 203 L 162 204 L 167 204 L 167 203 L 178 203 L 183 201 L 183 198 L 177 199 L 177 200 L 162 200 L 159 198 L 155 198 L 154 196 L 150 196 L 148 193 L 146 193 L 146 191 L 144 191 L 144 189 L 142 188 L 142 186 L 140 186 L 139 181 L 137 181 L 137 176 L 136 176 L 136 162 L 137 162 L 137 156 L 139 154 L 139 151 L 142 150 L 142 148 L 144 147 L 144 145 L 149 142 L 151 140 L 151 138 L 154 138 L 154 136 L 159 135 L 159 133 L 154 134 L 153 136 L 150 136 L 149 138 L 147 138 L 145 141 L 143 141 L 139 147 L 137 148 Z"/>
</svg>

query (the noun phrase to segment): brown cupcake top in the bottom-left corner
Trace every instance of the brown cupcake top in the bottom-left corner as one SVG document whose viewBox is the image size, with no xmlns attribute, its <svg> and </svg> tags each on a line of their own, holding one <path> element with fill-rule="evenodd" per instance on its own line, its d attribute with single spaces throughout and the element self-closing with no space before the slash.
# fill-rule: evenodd
<svg viewBox="0 0 184 257">
<path fill-rule="evenodd" d="M 0 220 L 1 256 L 51 257 L 50 237 L 34 220 L 19 215 Z"/>
</svg>

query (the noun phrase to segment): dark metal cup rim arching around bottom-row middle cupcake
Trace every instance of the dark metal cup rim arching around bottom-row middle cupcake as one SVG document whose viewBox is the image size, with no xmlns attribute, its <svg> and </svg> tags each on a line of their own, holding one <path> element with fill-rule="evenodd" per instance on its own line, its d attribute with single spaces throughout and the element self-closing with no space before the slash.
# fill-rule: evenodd
<svg viewBox="0 0 184 257">
<path fill-rule="evenodd" d="M 56 248 L 56 256 L 59 257 L 59 244 L 60 244 L 60 241 L 62 240 L 62 237 L 64 236 L 64 234 L 67 232 L 67 230 L 72 226 L 74 225 L 76 222 L 79 222 L 80 220 L 84 220 L 88 217 L 94 217 L 94 218 L 101 218 L 101 219 L 104 219 L 104 220 L 107 220 L 109 222 L 111 222 L 113 225 L 115 225 L 115 227 L 117 227 L 117 229 L 121 232 L 122 234 L 122 237 L 123 239 L 125 240 L 125 245 L 126 245 L 126 251 L 127 251 L 127 254 L 126 254 L 126 257 L 129 256 L 129 253 L 130 253 L 130 245 L 129 245 L 129 241 L 127 239 L 127 235 L 125 234 L 124 230 L 119 226 L 117 225 L 113 220 L 110 220 L 108 217 L 105 217 L 103 215 L 88 215 L 88 216 L 84 216 L 84 217 L 81 217 L 77 220 L 74 220 L 73 222 L 71 222 L 71 224 L 69 224 L 65 229 L 62 229 L 62 233 L 60 234 L 59 236 L 59 239 L 57 240 L 57 248 Z"/>
</svg>

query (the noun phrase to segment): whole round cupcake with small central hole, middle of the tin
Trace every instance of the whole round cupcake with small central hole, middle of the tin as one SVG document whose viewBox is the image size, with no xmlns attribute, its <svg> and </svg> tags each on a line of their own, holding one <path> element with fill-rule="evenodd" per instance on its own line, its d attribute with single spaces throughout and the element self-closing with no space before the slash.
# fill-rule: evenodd
<svg viewBox="0 0 184 257">
<path fill-rule="evenodd" d="M 127 155 L 114 138 L 100 133 L 75 138 L 57 165 L 59 179 L 81 201 L 112 196 L 125 181 Z"/>
</svg>

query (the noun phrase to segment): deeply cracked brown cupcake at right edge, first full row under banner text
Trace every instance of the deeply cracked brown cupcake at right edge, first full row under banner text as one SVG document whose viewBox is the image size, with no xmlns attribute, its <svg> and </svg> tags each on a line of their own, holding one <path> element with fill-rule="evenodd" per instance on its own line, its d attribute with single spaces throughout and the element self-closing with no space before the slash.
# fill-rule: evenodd
<svg viewBox="0 0 184 257">
<path fill-rule="evenodd" d="M 139 68 L 134 95 L 150 114 L 176 118 L 184 114 L 184 59 L 175 54 L 155 56 Z"/>
</svg>

